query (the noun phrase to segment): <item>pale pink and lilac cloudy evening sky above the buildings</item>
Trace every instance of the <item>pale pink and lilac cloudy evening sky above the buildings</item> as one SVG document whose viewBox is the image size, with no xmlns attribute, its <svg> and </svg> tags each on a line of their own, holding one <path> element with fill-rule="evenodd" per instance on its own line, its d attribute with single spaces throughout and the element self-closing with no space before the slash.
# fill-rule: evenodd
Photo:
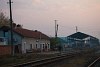
<svg viewBox="0 0 100 67">
<path fill-rule="evenodd" d="M 0 11 L 9 17 L 9 0 L 0 0 Z M 100 38 L 100 0 L 12 0 L 13 21 L 48 36 L 66 37 L 83 32 Z"/>
</svg>

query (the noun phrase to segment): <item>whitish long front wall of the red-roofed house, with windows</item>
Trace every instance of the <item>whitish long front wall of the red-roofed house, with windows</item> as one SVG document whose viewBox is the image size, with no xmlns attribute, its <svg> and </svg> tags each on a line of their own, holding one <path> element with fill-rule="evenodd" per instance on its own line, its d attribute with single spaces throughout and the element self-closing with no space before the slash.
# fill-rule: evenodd
<svg viewBox="0 0 100 67">
<path fill-rule="evenodd" d="M 34 39 L 34 38 L 23 38 L 22 39 L 22 53 L 26 53 L 26 50 L 30 50 L 30 44 L 32 44 L 32 49 L 43 49 L 43 44 L 47 44 L 47 50 L 50 49 L 50 41 L 45 39 Z M 36 48 L 37 44 L 37 48 Z"/>
</svg>

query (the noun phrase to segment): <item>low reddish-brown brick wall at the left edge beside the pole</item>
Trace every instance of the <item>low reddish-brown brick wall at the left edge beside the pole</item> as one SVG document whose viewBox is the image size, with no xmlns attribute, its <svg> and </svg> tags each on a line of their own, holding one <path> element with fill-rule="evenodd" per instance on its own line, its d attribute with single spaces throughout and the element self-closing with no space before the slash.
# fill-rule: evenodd
<svg viewBox="0 0 100 67">
<path fill-rule="evenodd" d="M 11 54 L 11 46 L 9 45 L 0 45 L 0 55 Z"/>
</svg>

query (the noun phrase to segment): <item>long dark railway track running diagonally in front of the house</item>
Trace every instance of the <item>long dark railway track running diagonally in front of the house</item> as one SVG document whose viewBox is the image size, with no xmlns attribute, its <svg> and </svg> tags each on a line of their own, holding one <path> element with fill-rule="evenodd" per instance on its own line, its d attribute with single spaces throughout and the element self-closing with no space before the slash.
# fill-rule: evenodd
<svg viewBox="0 0 100 67">
<path fill-rule="evenodd" d="M 42 60 L 31 61 L 31 62 L 27 62 L 27 63 L 23 63 L 23 64 L 14 65 L 12 67 L 42 67 L 43 65 L 47 65 L 47 64 L 53 63 L 55 61 L 59 61 L 59 60 L 66 59 L 66 58 L 71 58 L 80 53 L 81 52 L 62 54 L 62 55 L 58 55 L 58 56 L 52 57 L 52 58 L 46 58 L 46 59 L 42 59 Z"/>
</svg>

